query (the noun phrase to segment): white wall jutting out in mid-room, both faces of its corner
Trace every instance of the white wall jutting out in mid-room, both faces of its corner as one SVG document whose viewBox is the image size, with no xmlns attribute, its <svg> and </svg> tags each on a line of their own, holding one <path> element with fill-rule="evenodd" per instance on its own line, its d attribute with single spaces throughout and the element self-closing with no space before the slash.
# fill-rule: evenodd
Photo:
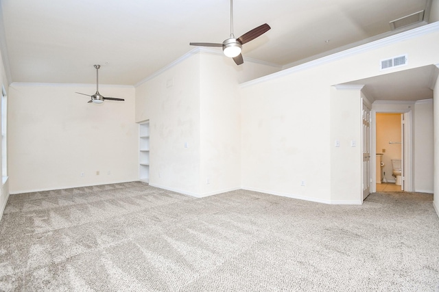
<svg viewBox="0 0 439 292">
<path fill-rule="evenodd" d="M 136 121 L 150 120 L 150 185 L 198 197 L 239 189 L 238 82 L 276 70 L 195 50 L 138 85 Z"/>
</svg>

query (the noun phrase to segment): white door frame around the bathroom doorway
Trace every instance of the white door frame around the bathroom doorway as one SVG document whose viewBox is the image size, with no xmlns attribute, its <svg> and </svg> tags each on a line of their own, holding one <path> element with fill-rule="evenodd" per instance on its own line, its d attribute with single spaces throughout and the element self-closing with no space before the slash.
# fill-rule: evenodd
<svg viewBox="0 0 439 292">
<path fill-rule="evenodd" d="M 372 151 L 371 157 L 377 156 L 377 114 L 404 114 L 405 127 L 404 127 L 404 157 L 401 157 L 403 161 L 404 176 L 401 179 L 404 180 L 404 190 L 413 191 L 413 140 L 412 140 L 412 107 L 407 109 L 372 109 Z M 402 137 L 401 137 L 402 138 Z M 372 192 L 377 191 L 377 159 L 371 159 L 372 168 Z"/>
</svg>

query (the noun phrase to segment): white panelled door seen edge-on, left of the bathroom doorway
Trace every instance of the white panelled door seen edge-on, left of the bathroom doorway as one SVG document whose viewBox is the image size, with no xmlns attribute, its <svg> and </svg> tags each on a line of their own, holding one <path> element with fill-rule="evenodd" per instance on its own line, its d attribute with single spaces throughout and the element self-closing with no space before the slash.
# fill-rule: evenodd
<svg viewBox="0 0 439 292">
<path fill-rule="evenodd" d="M 361 143 L 361 150 L 363 152 L 363 168 L 361 170 L 362 173 L 362 200 L 366 199 L 367 196 L 370 194 L 370 185 L 372 183 L 372 176 L 370 175 L 372 170 L 370 168 L 370 136 L 371 136 L 371 129 L 370 129 L 370 109 L 363 103 L 363 109 L 362 109 L 362 120 L 363 120 L 363 126 L 362 126 L 362 143 Z"/>
</svg>

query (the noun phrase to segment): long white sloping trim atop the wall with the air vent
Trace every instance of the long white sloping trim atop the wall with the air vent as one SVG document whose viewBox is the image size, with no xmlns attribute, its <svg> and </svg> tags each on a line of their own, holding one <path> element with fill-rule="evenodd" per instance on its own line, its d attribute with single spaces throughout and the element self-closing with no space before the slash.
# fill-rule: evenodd
<svg viewBox="0 0 439 292">
<path fill-rule="evenodd" d="M 372 42 L 368 42 L 367 44 L 361 44 L 357 47 L 346 49 L 344 51 L 340 51 L 337 53 L 333 53 L 332 55 L 327 55 L 325 57 L 320 57 L 318 59 L 313 59 L 309 62 L 306 62 L 304 64 L 299 64 L 297 66 L 287 68 L 285 70 L 281 70 L 279 72 L 274 72 L 270 75 L 260 77 L 257 79 L 253 79 L 244 83 L 240 83 L 240 88 L 246 88 L 250 85 L 254 85 L 257 83 L 265 82 L 268 80 L 276 79 L 279 77 L 283 77 L 285 75 L 292 74 L 293 72 L 298 72 L 302 70 L 307 70 L 309 68 L 313 68 L 316 66 L 320 66 L 322 64 L 327 64 L 329 62 L 334 62 L 339 59 L 351 56 L 351 55 L 357 55 L 359 53 L 364 53 L 366 51 L 379 49 L 385 46 L 388 46 L 389 44 L 394 44 L 396 42 L 402 42 L 403 40 L 410 40 L 412 38 L 417 38 L 419 36 L 425 36 L 427 34 L 430 34 L 432 32 L 439 31 L 439 21 L 436 23 L 430 23 L 428 25 L 423 25 L 422 27 L 416 27 L 414 29 L 411 29 L 409 31 L 403 31 L 399 34 L 395 34 L 393 36 L 388 36 L 385 38 L 381 38 L 379 40 L 375 40 Z M 284 66 L 285 67 L 285 66 Z"/>
</svg>

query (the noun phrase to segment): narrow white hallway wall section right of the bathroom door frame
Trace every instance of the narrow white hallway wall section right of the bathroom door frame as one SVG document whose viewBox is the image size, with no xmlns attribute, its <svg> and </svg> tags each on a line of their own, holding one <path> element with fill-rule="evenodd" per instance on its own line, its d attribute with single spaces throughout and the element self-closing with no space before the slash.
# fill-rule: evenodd
<svg viewBox="0 0 439 292">
<path fill-rule="evenodd" d="M 414 105 L 414 191 L 434 190 L 433 99 Z"/>
</svg>

